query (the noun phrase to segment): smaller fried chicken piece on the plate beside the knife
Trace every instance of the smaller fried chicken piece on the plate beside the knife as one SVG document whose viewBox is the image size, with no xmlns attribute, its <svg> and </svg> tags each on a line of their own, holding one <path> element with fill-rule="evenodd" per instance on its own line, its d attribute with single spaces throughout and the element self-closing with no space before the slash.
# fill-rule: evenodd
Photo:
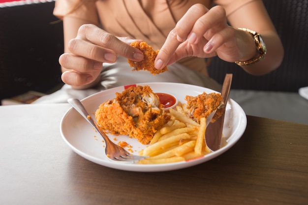
<svg viewBox="0 0 308 205">
<path fill-rule="evenodd" d="M 209 115 L 214 112 L 222 103 L 221 95 L 215 92 L 209 94 L 203 92 L 202 94 L 195 97 L 186 95 L 185 100 L 187 101 L 187 115 L 198 123 L 200 123 L 201 117 L 209 117 Z M 220 116 L 216 116 L 216 118 Z"/>
</svg>

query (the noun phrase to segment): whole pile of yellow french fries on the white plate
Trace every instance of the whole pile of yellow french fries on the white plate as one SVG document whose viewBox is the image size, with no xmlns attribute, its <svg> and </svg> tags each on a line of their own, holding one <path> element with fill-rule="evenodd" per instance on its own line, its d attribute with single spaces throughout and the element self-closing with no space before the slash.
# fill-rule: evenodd
<svg viewBox="0 0 308 205">
<path fill-rule="evenodd" d="M 206 146 L 204 135 L 206 118 L 200 118 L 200 124 L 189 118 L 185 104 L 170 109 L 170 120 L 154 134 L 150 146 L 139 152 L 149 156 L 139 164 L 162 164 L 188 161 L 211 152 Z"/>
</svg>

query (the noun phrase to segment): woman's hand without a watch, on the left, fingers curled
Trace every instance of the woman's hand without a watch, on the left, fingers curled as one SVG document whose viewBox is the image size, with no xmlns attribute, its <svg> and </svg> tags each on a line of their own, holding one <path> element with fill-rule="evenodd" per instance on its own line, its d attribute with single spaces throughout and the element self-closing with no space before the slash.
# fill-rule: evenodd
<svg viewBox="0 0 308 205">
<path fill-rule="evenodd" d="M 60 56 L 62 81 L 74 88 L 89 88 L 97 83 L 102 63 L 113 63 L 117 56 L 140 61 L 143 54 L 130 46 L 134 39 L 116 37 L 95 25 L 87 24 L 78 29 L 76 38 L 68 43 L 70 53 Z"/>
</svg>

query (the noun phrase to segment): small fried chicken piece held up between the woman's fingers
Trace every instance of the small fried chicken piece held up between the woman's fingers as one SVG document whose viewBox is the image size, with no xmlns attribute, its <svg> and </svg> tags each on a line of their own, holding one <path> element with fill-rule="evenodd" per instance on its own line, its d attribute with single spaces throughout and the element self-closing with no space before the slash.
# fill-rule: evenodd
<svg viewBox="0 0 308 205">
<path fill-rule="evenodd" d="M 138 70 L 148 70 L 152 74 L 155 75 L 155 74 L 163 73 L 168 70 L 166 66 L 161 70 L 157 70 L 154 67 L 154 60 L 156 59 L 156 56 L 159 50 L 154 51 L 152 46 L 149 46 L 146 42 L 141 42 L 141 43 L 132 42 L 130 45 L 142 51 L 143 56 L 144 56 L 144 59 L 139 62 L 135 62 L 135 61 L 128 59 L 128 63 L 130 64 L 130 67 L 133 67 L 133 71 L 134 70 L 137 70 L 137 71 Z"/>
</svg>

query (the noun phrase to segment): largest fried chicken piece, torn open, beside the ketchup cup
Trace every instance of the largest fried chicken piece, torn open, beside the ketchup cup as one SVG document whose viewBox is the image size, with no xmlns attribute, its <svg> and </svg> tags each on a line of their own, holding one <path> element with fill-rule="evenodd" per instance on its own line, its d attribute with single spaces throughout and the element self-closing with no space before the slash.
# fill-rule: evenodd
<svg viewBox="0 0 308 205">
<path fill-rule="evenodd" d="M 148 144 L 165 123 L 158 96 L 149 86 L 129 87 L 116 98 L 102 103 L 95 118 L 99 128 L 112 134 L 128 135 Z"/>
</svg>

